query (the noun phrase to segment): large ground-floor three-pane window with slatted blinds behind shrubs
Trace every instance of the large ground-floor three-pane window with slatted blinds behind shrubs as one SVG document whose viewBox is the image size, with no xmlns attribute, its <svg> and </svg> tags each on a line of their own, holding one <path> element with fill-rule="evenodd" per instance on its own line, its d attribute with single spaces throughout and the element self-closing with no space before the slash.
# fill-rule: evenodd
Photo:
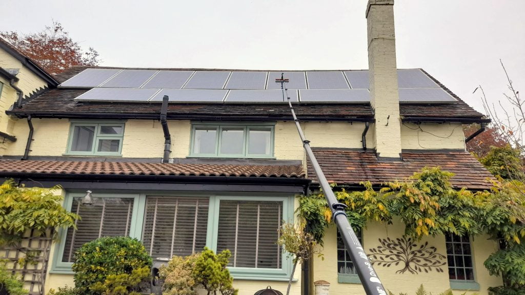
<svg viewBox="0 0 525 295">
<path fill-rule="evenodd" d="M 83 195 L 65 197 L 65 208 L 81 219 L 77 229 L 61 231 L 55 273 L 71 273 L 75 251 L 88 241 L 131 236 L 141 239 L 153 258 L 187 256 L 204 247 L 229 249 L 235 278 L 286 279 L 290 274 L 291 260 L 276 244 L 282 220 L 293 218 L 290 195 L 98 193 L 93 205 L 82 205 Z"/>
</svg>

